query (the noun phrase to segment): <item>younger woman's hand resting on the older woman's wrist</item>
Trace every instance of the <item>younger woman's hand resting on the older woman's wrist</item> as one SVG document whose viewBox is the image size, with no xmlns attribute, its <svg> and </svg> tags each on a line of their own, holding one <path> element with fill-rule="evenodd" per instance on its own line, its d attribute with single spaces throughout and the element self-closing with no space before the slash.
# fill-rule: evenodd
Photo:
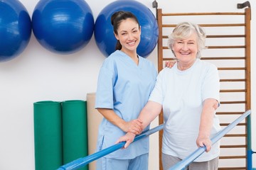
<svg viewBox="0 0 256 170">
<path fill-rule="evenodd" d="M 129 122 L 124 123 L 122 130 L 124 132 L 132 132 L 135 135 L 139 135 L 142 133 L 143 125 L 142 120 L 134 119 Z"/>
</svg>

